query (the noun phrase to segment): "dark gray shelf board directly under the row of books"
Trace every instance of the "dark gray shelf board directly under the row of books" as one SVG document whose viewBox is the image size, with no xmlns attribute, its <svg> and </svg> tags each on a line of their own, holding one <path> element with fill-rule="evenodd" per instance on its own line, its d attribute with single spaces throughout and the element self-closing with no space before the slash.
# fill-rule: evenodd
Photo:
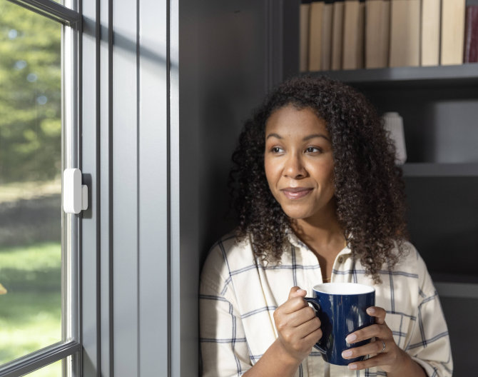
<svg viewBox="0 0 478 377">
<path fill-rule="evenodd" d="M 357 86 L 434 86 L 474 85 L 478 83 L 478 64 L 459 66 L 418 66 L 379 69 L 352 69 L 346 71 L 305 72 L 303 75 L 329 76 Z"/>
</svg>

